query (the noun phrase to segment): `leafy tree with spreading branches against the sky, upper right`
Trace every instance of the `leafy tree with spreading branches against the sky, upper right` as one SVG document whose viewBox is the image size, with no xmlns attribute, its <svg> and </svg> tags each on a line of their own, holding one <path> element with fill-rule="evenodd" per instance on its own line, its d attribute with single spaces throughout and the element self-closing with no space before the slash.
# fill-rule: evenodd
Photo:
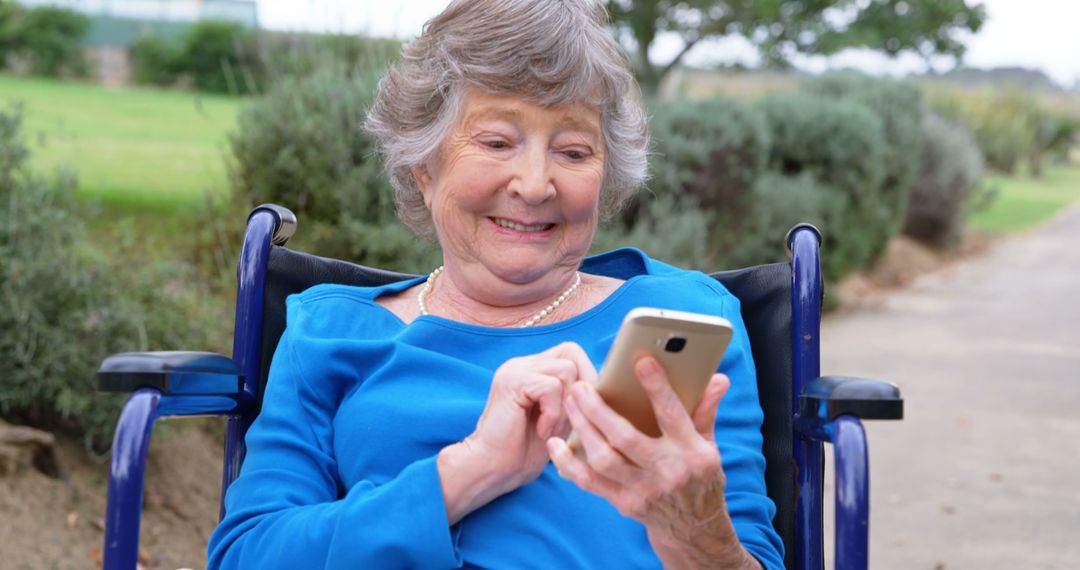
<svg viewBox="0 0 1080 570">
<path fill-rule="evenodd" d="M 963 56 L 958 32 L 975 32 L 986 12 L 966 0 L 607 0 L 617 31 L 633 43 L 638 79 L 654 93 L 664 76 L 710 38 L 742 37 L 766 65 L 784 66 L 797 54 L 834 54 L 869 48 L 890 56 L 915 52 Z M 670 62 L 649 59 L 661 32 L 681 37 Z"/>
</svg>

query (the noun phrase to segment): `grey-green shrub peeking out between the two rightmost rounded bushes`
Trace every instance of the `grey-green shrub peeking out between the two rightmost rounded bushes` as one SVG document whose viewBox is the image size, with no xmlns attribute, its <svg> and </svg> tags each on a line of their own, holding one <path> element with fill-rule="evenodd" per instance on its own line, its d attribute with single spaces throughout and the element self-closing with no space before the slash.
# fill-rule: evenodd
<svg viewBox="0 0 1080 570">
<path fill-rule="evenodd" d="M 807 81 L 809 93 L 865 105 L 881 119 L 885 133 L 880 207 L 867 212 L 878 215 L 874 223 L 887 231 L 877 232 L 869 244 L 870 257 L 885 250 L 889 238 L 900 231 L 907 209 L 908 195 L 919 176 L 922 157 L 922 117 L 926 103 L 922 92 L 909 81 L 872 78 L 859 73 L 831 73 Z"/>
</svg>

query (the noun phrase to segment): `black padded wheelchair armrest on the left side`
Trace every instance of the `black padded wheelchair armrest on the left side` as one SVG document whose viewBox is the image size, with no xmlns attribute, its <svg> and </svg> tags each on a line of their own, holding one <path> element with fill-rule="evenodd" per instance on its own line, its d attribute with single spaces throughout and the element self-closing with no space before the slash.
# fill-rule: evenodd
<svg viewBox="0 0 1080 570">
<path fill-rule="evenodd" d="M 212 352 L 125 352 L 102 361 L 97 390 L 140 388 L 165 394 L 239 394 L 243 376 L 232 358 Z"/>
</svg>

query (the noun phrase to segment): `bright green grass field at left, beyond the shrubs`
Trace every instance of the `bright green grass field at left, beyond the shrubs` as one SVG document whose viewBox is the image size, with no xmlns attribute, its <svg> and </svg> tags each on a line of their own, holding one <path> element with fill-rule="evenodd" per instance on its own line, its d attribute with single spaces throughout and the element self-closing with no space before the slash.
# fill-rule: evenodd
<svg viewBox="0 0 1080 570">
<path fill-rule="evenodd" d="M 171 211 L 227 191 L 227 135 L 242 100 L 0 74 L 0 105 L 14 100 L 36 169 L 72 168 L 82 195 Z"/>
</svg>

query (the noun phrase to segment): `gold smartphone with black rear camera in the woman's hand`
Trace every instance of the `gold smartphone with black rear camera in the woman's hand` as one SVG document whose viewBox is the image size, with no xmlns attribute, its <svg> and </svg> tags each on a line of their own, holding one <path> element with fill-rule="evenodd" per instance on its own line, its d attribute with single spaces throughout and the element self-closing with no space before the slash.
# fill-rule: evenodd
<svg viewBox="0 0 1080 570">
<path fill-rule="evenodd" d="M 634 374 L 637 361 L 646 354 L 654 356 L 667 372 L 683 407 L 690 412 L 720 365 L 731 335 L 731 323 L 720 316 L 646 307 L 634 309 L 619 328 L 600 368 L 596 390 L 608 406 L 642 433 L 659 437 L 652 404 Z M 567 442 L 580 456 L 577 434 L 571 433 Z"/>
</svg>

